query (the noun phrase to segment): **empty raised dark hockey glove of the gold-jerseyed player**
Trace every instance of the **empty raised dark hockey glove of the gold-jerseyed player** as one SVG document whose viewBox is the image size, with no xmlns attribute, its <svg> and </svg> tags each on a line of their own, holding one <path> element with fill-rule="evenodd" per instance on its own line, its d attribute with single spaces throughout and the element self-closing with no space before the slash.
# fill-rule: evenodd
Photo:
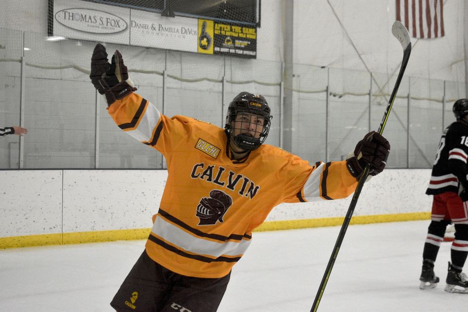
<svg viewBox="0 0 468 312">
<path fill-rule="evenodd" d="M 89 78 L 97 91 L 105 94 L 107 106 L 137 90 L 128 78 L 128 69 L 119 50 L 115 50 L 109 64 L 106 48 L 100 43 L 96 44 L 92 52 Z"/>
</svg>

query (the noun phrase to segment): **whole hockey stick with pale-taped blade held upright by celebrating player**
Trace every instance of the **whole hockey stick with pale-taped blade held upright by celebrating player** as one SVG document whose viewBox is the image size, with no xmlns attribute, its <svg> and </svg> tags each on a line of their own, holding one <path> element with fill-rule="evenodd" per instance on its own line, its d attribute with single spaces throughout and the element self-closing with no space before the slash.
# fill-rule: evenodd
<svg viewBox="0 0 468 312">
<path fill-rule="evenodd" d="M 408 30 L 403 26 L 403 24 L 401 24 L 399 21 L 395 21 L 391 27 L 391 33 L 396 39 L 398 39 L 401 46 L 403 47 L 403 61 L 401 62 L 400 72 L 398 73 L 398 77 L 396 78 L 395 86 L 393 87 L 393 91 L 391 91 L 389 105 L 385 110 L 384 118 L 382 119 L 382 122 L 379 126 L 379 130 L 377 131 L 379 134 L 382 134 L 384 132 L 384 128 L 387 124 L 391 107 L 393 106 L 393 101 L 396 97 L 396 91 L 398 90 L 398 87 L 400 85 L 401 78 L 403 78 L 403 73 L 406 69 L 406 65 L 408 64 L 409 55 L 411 54 L 411 41 L 409 40 L 409 33 Z M 322 298 L 323 292 L 325 291 L 326 283 L 328 282 L 331 270 L 333 269 L 336 256 L 338 255 L 338 251 L 340 250 L 344 235 L 346 234 L 349 222 L 351 221 L 351 217 L 353 216 L 354 208 L 356 207 L 356 203 L 358 202 L 359 194 L 361 193 L 362 187 L 364 186 L 364 182 L 366 181 L 368 175 L 369 164 L 364 168 L 361 178 L 359 179 L 358 185 L 356 186 L 356 190 L 354 191 L 353 199 L 349 204 L 348 212 L 346 213 L 346 217 L 343 221 L 343 225 L 341 226 L 340 233 L 338 234 L 338 238 L 336 239 L 335 246 L 333 247 L 330 259 L 328 260 L 325 273 L 323 274 L 322 281 L 318 288 L 317 294 L 315 295 L 315 300 L 313 301 L 311 312 L 315 312 L 318 309 L 318 304 L 320 303 L 320 299 Z"/>
</svg>

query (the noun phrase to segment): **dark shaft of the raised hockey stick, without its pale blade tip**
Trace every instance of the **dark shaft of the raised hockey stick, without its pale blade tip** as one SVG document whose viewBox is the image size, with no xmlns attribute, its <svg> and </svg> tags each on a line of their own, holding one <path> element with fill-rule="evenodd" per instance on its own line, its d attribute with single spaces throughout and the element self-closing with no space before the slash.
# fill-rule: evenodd
<svg viewBox="0 0 468 312">
<path fill-rule="evenodd" d="M 398 91 L 398 87 L 401 83 L 401 79 L 403 78 L 404 70 L 406 69 L 406 65 L 408 64 L 409 55 L 411 53 L 411 45 L 408 45 L 406 49 L 403 51 L 403 61 L 401 62 L 401 68 L 398 73 L 398 77 L 396 78 L 395 86 L 390 95 L 389 105 L 387 105 L 387 109 L 385 110 L 384 117 L 382 118 L 382 122 L 380 123 L 379 130 L 377 131 L 379 134 L 384 132 L 385 125 L 387 124 L 387 120 L 390 115 L 390 110 L 393 105 L 393 101 L 396 97 L 396 91 Z M 354 196 L 349 204 L 348 212 L 343 221 L 343 225 L 341 226 L 340 233 L 336 238 L 335 246 L 333 247 L 333 251 L 331 253 L 330 259 L 328 260 L 328 264 L 326 266 L 325 272 L 322 277 L 322 281 L 320 282 L 320 286 L 318 287 L 317 294 L 315 295 L 315 299 L 312 304 L 311 312 L 316 312 L 318 309 L 318 305 L 320 303 L 320 299 L 322 298 L 323 292 L 325 291 L 326 284 L 328 282 L 328 278 L 330 277 L 331 270 L 333 269 L 333 265 L 335 264 L 336 257 L 338 256 L 338 252 L 341 247 L 341 243 L 343 242 L 344 235 L 346 234 L 346 230 L 348 229 L 349 223 L 351 221 L 351 217 L 354 213 L 354 208 L 359 199 L 359 194 L 361 194 L 361 190 L 364 186 L 364 183 L 369 175 L 369 164 L 366 165 L 364 171 L 359 179 L 358 185 L 356 186 L 356 190 L 354 191 Z"/>
</svg>

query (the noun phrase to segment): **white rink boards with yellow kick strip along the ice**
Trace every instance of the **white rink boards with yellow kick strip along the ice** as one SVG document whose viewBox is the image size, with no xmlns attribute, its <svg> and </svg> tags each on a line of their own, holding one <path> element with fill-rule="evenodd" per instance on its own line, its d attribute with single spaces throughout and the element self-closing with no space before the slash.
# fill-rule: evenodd
<svg viewBox="0 0 468 312">
<path fill-rule="evenodd" d="M 366 182 L 351 224 L 428 219 L 430 169 Z M 167 170 L 3 170 L 0 248 L 146 238 Z M 351 197 L 281 204 L 257 230 L 340 225 Z"/>
</svg>

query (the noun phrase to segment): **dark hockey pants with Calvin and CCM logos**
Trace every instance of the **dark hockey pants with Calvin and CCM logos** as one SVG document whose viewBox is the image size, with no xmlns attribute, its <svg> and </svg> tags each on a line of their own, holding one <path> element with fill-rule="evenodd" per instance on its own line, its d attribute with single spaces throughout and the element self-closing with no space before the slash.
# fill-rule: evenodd
<svg viewBox="0 0 468 312">
<path fill-rule="evenodd" d="M 111 302 L 118 312 L 216 312 L 231 273 L 196 278 L 174 273 L 143 251 Z"/>
</svg>

